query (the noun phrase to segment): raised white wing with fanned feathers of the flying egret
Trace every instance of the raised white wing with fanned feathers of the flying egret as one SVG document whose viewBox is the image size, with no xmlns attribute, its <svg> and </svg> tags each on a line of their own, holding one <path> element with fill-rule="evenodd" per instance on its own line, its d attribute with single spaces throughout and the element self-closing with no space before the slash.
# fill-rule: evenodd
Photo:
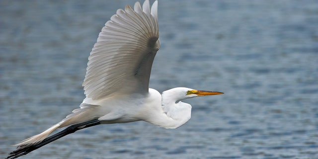
<svg viewBox="0 0 318 159">
<path fill-rule="evenodd" d="M 158 1 L 149 0 L 134 9 L 118 9 L 99 33 L 87 64 L 83 82 L 86 97 L 146 93 L 151 67 L 160 47 Z"/>
</svg>

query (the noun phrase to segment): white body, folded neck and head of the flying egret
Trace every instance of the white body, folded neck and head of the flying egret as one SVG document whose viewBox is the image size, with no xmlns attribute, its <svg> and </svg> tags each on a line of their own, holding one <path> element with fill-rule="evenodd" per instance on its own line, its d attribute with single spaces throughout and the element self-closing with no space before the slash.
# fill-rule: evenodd
<svg viewBox="0 0 318 159">
<path fill-rule="evenodd" d="M 184 93 L 180 94 L 180 97 L 171 98 L 171 95 L 176 95 L 175 92 L 180 89 L 184 89 L 183 92 L 191 90 L 190 88 L 178 87 L 166 90 L 161 95 L 156 89 L 149 88 L 147 95 L 133 93 L 130 95 L 116 95 L 102 100 L 85 98 L 82 105 L 85 106 L 84 108 L 91 107 L 91 109 L 94 109 L 89 112 L 89 116 L 98 117 L 101 124 L 142 120 L 163 128 L 177 128 L 191 117 L 190 104 L 181 101 L 176 103 L 177 100 L 190 98 L 190 96 L 186 96 L 186 93 Z"/>
</svg>

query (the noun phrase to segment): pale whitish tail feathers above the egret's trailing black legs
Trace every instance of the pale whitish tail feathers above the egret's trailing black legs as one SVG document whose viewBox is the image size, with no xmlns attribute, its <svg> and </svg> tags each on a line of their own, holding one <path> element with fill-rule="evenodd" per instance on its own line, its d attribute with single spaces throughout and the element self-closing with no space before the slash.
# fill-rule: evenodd
<svg viewBox="0 0 318 159">
<path fill-rule="evenodd" d="M 16 146 L 17 148 L 24 148 L 24 147 L 29 147 L 32 145 L 35 145 L 37 143 L 40 143 L 44 139 L 46 139 L 51 133 L 53 133 L 56 129 L 58 128 L 63 128 L 65 126 L 73 125 L 73 124 L 78 124 L 82 122 L 86 122 L 89 120 L 96 119 L 96 116 L 92 116 L 91 112 L 94 108 L 96 108 L 98 105 L 90 105 L 90 104 L 81 104 L 79 109 L 73 110 L 73 113 L 68 115 L 65 119 L 60 121 L 59 123 L 53 125 L 49 129 L 45 130 L 44 132 L 32 136 L 28 139 L 25 139 L 21 141 L 19 144 L 13 145 Z"/>
</svg>

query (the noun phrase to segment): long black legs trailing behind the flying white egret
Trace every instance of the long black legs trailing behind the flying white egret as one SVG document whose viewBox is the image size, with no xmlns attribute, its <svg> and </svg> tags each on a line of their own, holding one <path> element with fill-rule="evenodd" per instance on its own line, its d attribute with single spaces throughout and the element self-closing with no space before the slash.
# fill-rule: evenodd
<svg viewBox="0 0 318 159">
<path fill-rule="evenodd" d="M 30 152 L 32 152 L 33 150 L 39 149 L 42 146 L 49 144 L 55 140 L 58 140 L 66 135 L 72 134 L 80 129 L 84 129 L 84 128 L 88 128 L 91 126 L 95 126 L 95 125 L 99 125 L 100 121 L 95 119 L 95 120 L 91 120 L 91 121 L 87 121 L 87 122 L 83 122 L 83 123 L 79 123 L 79 124 L 74 124 L 69 126 L 68 128 L 47 137 L 46 139 L 44 139 L 43 141 L 36 143 L 34 145 L 30 145 L 30 146 L 26 146 L 26 147 L 22 147 L 22 148 L 17 148 L 17 150 L 11 152 L 6 159 L 16 159 L 20 156 L 26 155 Z"/>
</svg>

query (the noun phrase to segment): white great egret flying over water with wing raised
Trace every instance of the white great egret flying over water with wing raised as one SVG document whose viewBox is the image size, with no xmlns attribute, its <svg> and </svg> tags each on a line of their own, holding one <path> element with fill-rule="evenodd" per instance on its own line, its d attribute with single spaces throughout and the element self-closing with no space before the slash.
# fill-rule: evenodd
<svg viewBox="0 0 318 159">
<path fill-rule="evenodd" d="M 98 124 L 146 121 L 163 128 L 177 128 L 191 117 L 191 105 L 182 99 L 223 94 L 177 87 L 160 94 L 149 88 L 151 67 L 160 47 L 158 1 L 134 9 L 118 9 L 99 33 L 83 82 L 86 98 L 80 108 L 44 132 L 15 145 L 14 159 L 75 131 Z M 58 128 L 72 125 L 48 137 Z"/>
</svg>

